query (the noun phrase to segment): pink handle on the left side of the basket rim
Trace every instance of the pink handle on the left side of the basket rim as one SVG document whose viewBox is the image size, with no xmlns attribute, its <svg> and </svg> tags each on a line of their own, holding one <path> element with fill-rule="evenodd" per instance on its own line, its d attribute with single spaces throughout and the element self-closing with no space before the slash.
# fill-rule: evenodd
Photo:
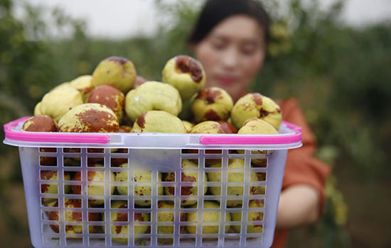
<svg viewBox="0 0 391 248">
<path fill-rule="evenodd" d="M 22 140 L 31 142 L 58 142 L 58 143 L 88 143 L 106 144 L 110 141 L 109 135 L 97 135 L 92 133 L 38 133 L 14 131 L 12 128 L 30 118 L 22 117 L 4 124 L 4 135 L 10 140 Z"/>
</svg>

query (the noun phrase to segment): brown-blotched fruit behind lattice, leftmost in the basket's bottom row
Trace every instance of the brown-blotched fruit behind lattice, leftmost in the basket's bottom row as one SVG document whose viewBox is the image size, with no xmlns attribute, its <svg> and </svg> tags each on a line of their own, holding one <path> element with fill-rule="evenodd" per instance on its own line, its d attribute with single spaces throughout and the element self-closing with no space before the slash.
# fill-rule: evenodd
<svg viewBox="0 0 391 248">
<path fill-rule="evenodd" d="M 65 221 L 82 221 L 82 204 L 79 199 L 65 199 Z M 53 207 L 58 207 L 58 202 L 56 201 Z M 70 210 L 67 208 L 80 208 L 78 210 Z M 46 212 L 49 220 L 59 220 L 58 212 L 50 211 Z M 62 214 L 62 213 L 61 213 Z M 88 213 L 89 221 L 102 221 L 102 215 L 100 213 Z M 52 230 L 56 233 L 59 232 L 58 225 L 50 225 Z M 90 233 L 95 233 L 97 231 L 97 226 L 88 225 Z M 82 225 L 65 225 L 65 232 L 69 234 L 82 233 Z"/>
</svg>

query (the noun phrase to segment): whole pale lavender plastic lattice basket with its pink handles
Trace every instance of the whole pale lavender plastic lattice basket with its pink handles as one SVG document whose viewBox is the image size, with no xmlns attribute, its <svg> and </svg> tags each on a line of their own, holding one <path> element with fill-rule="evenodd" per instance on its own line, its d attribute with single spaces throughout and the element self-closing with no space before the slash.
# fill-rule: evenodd
<svg viewBox="0 0 391 248">
<path fill-rule="evenodd" d="M 4 143 L 19 147 L 34 247 L 272 245 L 286 153 L 301 146 L 301 128 L 283 122 L 278 135 L 31 133 L 21 130 L 26 119 L 4 125 Z M 120 173 L 129 180 L 116 181 Z M 90 174 L 100 174 L 98 181 Z"/>
</svg>

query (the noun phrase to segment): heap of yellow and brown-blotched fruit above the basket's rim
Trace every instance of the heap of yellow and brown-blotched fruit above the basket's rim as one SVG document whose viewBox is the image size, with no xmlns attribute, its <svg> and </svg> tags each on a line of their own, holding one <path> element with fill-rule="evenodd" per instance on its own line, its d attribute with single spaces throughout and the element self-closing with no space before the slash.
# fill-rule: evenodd
<svg viewBox="0 0 391 248">
<path fill-rule="evenodd" d="M 134 64 L 108 57 L 92 75 L 77 77 L 49 91 L 23 130 L 68 133 L 239 133 L 276 134 L 281 108 L 259 93 L 235 104 L 227 91 L 204 88 L 205 72 L 192 57 L 168 60 L 162 82 L 136 77 Z M 183 108 L 183 105 L 190 108 Z M 191 120 L 181 120 L 191 111 Z M 186 113 L 184 114 L 186 115 Z"/>
</svg>

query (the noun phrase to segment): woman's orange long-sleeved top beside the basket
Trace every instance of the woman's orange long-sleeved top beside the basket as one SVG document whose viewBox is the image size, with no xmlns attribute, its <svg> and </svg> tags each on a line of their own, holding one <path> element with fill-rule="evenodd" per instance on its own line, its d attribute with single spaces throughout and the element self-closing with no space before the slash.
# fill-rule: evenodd
<svg viewBox="0 0 391 248">
<path fill-rule="evenodd" d="M 288 152 L 282 191 L 294 184 L 307 184 L 314 187 L 318 191 L 319 196 L 321 196 L 321 204 L 319 204 L 319 215 L 321 215 L 323 206 L 326 203 L 324 185 L 330 173 L 330 167 L 314 157 L 316 138 L 306 122 L 299 103 L 294 98 L 277 101 L 277 103 L 282 108 L 282 119 L 301 127 L 301 141 L 303 143 L 302 147 L 289 150 Z M 288 230 L 276 230 L 272 248 L 285 247 L 288 233 Z"/>
</svg>

